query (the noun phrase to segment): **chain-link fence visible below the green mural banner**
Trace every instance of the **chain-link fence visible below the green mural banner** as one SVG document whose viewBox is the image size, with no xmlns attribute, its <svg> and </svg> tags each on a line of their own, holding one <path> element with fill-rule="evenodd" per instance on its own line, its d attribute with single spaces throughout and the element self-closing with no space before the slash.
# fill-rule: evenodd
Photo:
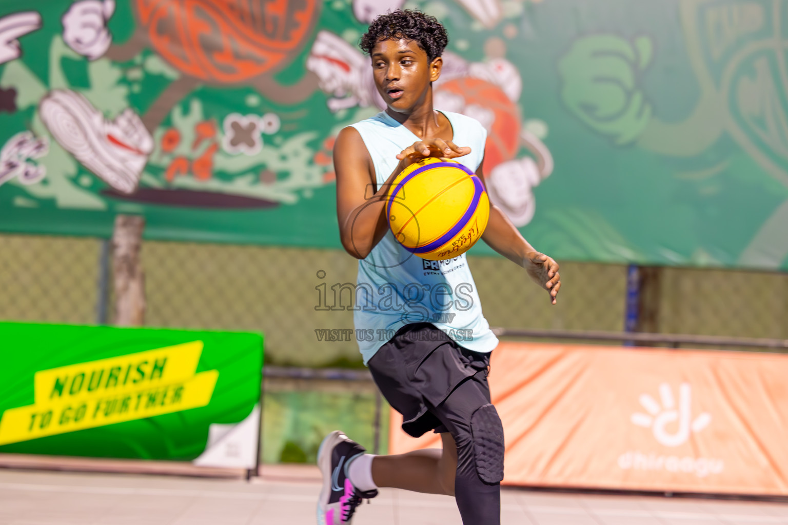
<svg viewBox="0 0 788 525">
<path fill-rule="evenodd" d="M 112 324 L 108 246 L 98 238 L 0 235 L 0 320 Z M 494 327 L 623 330 L 624 265 L 563 262 L 552 306 L 515 264 L 468 259 Z M 316 309 L 322 291 L 355 283 L 359 263 L 341 250 L 147 241 L 141 260 L 147 326 L 260 331 L 269 365 L 362 367 L 354 340 L 320 341 L 315 332 L 353 327 L 347 309 Z M 651 331 L 788 338 L 786 274 L 688 268 L 652 274 L 658 279 L 649 292 Z M 320 438 L 336 425 L 370 449 L 377 432 L 385 453 L 388 412 L 384 404 L 377 424 L 374 383 L 269 377 L 264 390 L 266 462 L 314 460 Z"/>
</svg>

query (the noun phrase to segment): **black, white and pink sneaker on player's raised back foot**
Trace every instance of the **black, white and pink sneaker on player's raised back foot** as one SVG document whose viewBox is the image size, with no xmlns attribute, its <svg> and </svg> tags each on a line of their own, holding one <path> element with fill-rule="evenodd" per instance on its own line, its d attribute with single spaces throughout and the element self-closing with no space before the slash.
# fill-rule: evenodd
<svg viewBox="0 0 788 525">
<path fill-rule="evenodd" d="M 318 449 L 318 467 L 323 489 L 318 500 L 318 525 L 347 525 L 362 499 L 377 496 L 377 490 L 362 492 L 348 479 L 348 463 L 366 449 L 340 431 L 325 436 Z"/>
</svg>

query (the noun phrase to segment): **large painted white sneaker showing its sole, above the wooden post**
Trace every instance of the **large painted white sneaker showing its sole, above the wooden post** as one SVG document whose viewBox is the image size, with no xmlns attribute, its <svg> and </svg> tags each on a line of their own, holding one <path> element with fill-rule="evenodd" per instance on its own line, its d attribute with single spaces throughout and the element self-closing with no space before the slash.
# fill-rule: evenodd
<svg viewBox="0 0 788 525">
<path fill-rule="evenodd" d="M 85 168 L 115 190 L 136 190 L 153 139 L 132 109 L 106 120 L 81 94 L 54 90 L 41 100 L 39 114 L 58 144 Z"/>
</svg>

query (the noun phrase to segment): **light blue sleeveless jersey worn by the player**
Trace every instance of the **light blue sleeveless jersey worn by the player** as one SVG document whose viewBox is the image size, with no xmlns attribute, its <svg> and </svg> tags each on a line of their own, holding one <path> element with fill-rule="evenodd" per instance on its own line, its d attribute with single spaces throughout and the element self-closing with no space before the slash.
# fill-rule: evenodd
<svg viewBox="0 0 788 525">
<path fill-rule="evenodd" d="M 469 116 L 441 113 L 452 124 L 452 142 L 470 146 L 470 153 L 455 160 L 475 172 L 484 157 L 487 131 Z M 370 152 L 379 189 L 400 163 L 396 155 L 419 139 L 385 112 L 352 126 Z M 498 345 L 481 315 L 465 254 L 448 261 L 426 261 L 405 250 L 391 230 L 359 261 L 355 308 L 353 321 L 364 364 L 410 323 L 432 323 L 475 352 L 491 352 Z"/>
</svg>

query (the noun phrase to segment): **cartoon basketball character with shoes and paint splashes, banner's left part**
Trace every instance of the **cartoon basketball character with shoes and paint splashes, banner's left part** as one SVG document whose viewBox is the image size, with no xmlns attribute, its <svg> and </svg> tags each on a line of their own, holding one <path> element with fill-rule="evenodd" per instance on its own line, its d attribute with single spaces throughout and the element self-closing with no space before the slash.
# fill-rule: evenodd
<svg viewBox="0 0 788 525">
<path fill-rule="evenodd" d="M 287 195 L 272 195 L 276 191 L 270 187 L 256 188 L 255 185 L 265 186 L 266 182 L 272 182 L 262 176 L 259 179 L 255 176 L 253 180 L 237 177 L 233 183 L 214 178 L 217 168 L 225 172 L 228 168 L 229 171 L 238 169 L 229 166 L 232 161 L 222 163 L 222 159 L 217 158 L 220 153 L 228 157 L 237 153 L 247 156 L 260 153 L 262 139 L 259 134 L 273 135 L 281 126 L 277 113 L 257 116 L 254 130 L 228 126 L 228 120 L 235 114 L 228 113 L 224 118 L 225 127 L 220 128 L 215 118 L 199 117 L 198 122 L 192 122 L 195 116 L 203 113 L 202 104 L 193 99 L 190 109 L 195 111 L 186 117 L 189 121 L 180 119 L 179 122 L 178 119 L 184 113 L 177 105 L 205 83 L 215 87 L 251 86 L 266 101 L 278 105 L 302 102 L 317 89 L 317 79 L 311 74 L 303 76 L 298 86 L 287 87 L 277 83 L 273 74 L 287 66 L 307 43 L 321 2 L 306 0 L 266 6 L 267 11 L 249 6 L 249 16 L 246 16 L 245 11 L 228 9 L 224 2 L 217 0 L 134 0 L 131 8 L 138 24 L 131 39 L 116 45 L 109 29 L 113 16 L 117 16 L 114 0 L 79 0 L 66 7 L 59 20 L 61 34 L 54 35 L 52 40 L 50 64 L 54 77 L 49 87 L 54 89 L 47 90 L 34 80 L 23 64 L 15 65 L 11 72 L 17 79 L 15 83 L 21 85 L 9 88 L 9 104 L 5 103 L 6 97 L 0 97 L 0 111 L 6 105 L 13 111 L 18 109 L 14 98 L 20 88 L 30 87 L 24 86 L 24 80 L 38 84 L 36 88 L 43 87 L 46 92 L 38 101 L 25 97 L 20 109 L 28 109 L 31 102 L 35 102 L 40 121 L 54 142 L 106 183 L 109 188 L 104 193 L 115 198 L 177 205 L 210 204 L 219 208 L 270 207 L 277 201 L 292 201 Z M 17 39 L 38 30 L 41 24 L 41 15 L 36 12 L 14 13 L 0 19 L 0 63 L 22 56 Z M 172 28 L 178 31 L 173 32 Z M 214 38 L 214 35 L 222 38 Z M 155 54 L 151 54 L 151 50 Z M 93 84 L 91 90 L 69 85 L 69 74 L 62 68 L 61 58 L 64 57 L 87 60 L 87 75 Z M 123 65 L 128 62 L 134 65 Z M 147 109 L 140 111 L 130 98 L 143 92 L 140 84 L 146 80 L 146 75 L 164 77 L 169 85 L 146 104 Z M 4 83 L 9 83 L 8 79 Z M 0 94 L 5 95 L 6 91 Z M 258 97 L 259 100 L 262 99 Z M 162 121 L 173 109 L 176 114 L 171 116 L 172 124 L 162 128 Z M 180 145 L 180 137 L 190 140 L 173 152 Z M 303 149 L 305 139 L 299 137 L 296 147 Z M 277 146 L 287 149 L 290 145 L 278 142 Z M 287 153 L 283 157 L 285 161 L 281 164 L 284 166 L 277 168 L 307 172 L 288 164 Z M 266 163 L 266 159 L 258 157 L 256 160 L 258 164 Z M 151 176 L 150 171 L 158 171 L 156 168 L 160 168 L 161 181 Z M 325 169 L 321 166 L 311 171 L 318 172 L 311 177 L 318 183 L 312 185 L 322 185 Z M 84 190 L 80 186 L 90 189 L 93 185 L 87 179 L 73 176 L 73 171 L 64 172 L 62 166 L 58 172 L 65 176 L 58 177 L 59 184 L 33 194 L 57 193 L 58 204 L 68 203 L 67 207 L 72 208 L 99 207 L 87 195 L 66 198 L 66 185 L 77 183 L 76 187 L 68 188 L 71 194 L 82 193 Z M 61 174 L 55 174 L 58 175 Z M 203 182 L 203 186 L 184 183 L 180 177 L 184 175 Z M 33 184 L 40 178 L 20 177 L 20 180 Z M 147 182 L 142 183 L 143 179 Z M 178 187 L 184 190 L 177 190 Z M 203 196 L 195 195 L 195 190 L 202 191 Z"/>
</svg>

